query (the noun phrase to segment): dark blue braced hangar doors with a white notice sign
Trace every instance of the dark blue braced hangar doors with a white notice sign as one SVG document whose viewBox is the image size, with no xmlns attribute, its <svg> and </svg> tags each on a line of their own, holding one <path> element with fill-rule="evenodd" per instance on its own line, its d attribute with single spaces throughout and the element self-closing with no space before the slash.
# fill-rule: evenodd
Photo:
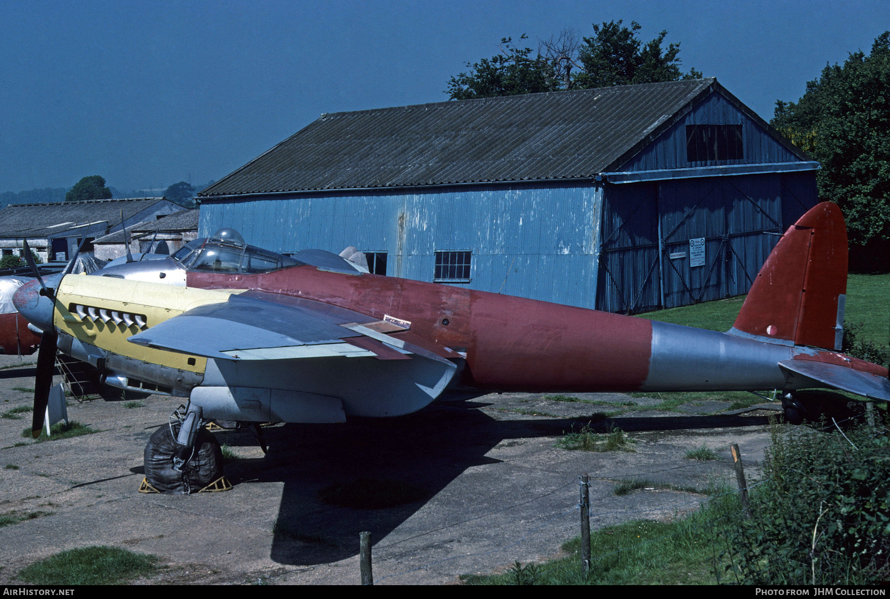
<svg viewBox="0 0 890 599">
<path fill-rule="evenodd" d="M 748 293 L 783 230 L 781 193 L 780 174 L 609 186 L 597 309 L 639 313 Z"/>
</svg>

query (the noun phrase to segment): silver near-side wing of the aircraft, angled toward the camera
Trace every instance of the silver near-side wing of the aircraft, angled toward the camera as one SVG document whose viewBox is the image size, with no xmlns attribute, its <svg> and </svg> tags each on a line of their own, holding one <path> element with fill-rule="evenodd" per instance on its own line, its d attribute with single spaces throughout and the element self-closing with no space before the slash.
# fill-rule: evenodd
<svg viewBox="0 0 890 599">
<path fill-rule="evenodd" d="M 129 341 L 205 356 L 204 382 L 192 401 L 258 406 L 263 414 L 255 420 L 336 422 L 333 412 L 313 417 L 306 406 L 334 401 L 345 415 L 401 416 L 432 402 L 457 371 L 455 362 L 381 332 L 387 330 L 381 324 L 329 304 L 247 291 L 182 312 Z M 251 419 L 243 416 L 228 417 Z"/>
</svg>

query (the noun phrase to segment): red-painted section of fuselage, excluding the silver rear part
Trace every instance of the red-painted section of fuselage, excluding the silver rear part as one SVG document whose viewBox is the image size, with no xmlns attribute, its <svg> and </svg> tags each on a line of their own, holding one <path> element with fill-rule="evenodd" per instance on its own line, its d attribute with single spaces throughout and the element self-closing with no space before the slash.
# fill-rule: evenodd
<svg viewBox="0 0 890 599">
<path fill-rule="evenodd" d="M 189 287 L 252 288 L 409 320 L 395 333 L 442 357 L 466 352 L 463 383 L 502 390 L 638 389 L 649 371 L 651 321 L 374 274 L 297 266 L 266 274 L 189 272 Z M 433 340 L 431 347 L 425 340 Z"/>
</svg>

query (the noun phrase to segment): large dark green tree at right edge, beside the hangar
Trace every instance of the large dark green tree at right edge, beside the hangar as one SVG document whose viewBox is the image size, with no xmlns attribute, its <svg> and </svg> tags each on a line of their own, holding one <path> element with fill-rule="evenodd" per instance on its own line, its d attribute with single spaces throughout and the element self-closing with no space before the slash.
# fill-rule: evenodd
<svg viewBox="0 0 890 599">
<path fill-rule="evenodd" d="M 771 125 L 821 163 L 819 196 L 844 211 L 850 267 L 890 269 L 890 31 L 871 52 L 826 65 Z"/>
</svg>

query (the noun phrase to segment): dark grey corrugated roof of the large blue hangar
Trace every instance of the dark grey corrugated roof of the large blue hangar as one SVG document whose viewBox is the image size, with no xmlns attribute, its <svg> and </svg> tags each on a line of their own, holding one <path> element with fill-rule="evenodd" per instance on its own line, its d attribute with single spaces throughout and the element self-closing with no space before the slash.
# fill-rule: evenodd
<svg viewBox="0 0 890 599">
<path fill-rule="evenodd" d="M 198 195 L 589 177 L 716 87 L 712 77 L 325 114 Z"/>
</svg>

